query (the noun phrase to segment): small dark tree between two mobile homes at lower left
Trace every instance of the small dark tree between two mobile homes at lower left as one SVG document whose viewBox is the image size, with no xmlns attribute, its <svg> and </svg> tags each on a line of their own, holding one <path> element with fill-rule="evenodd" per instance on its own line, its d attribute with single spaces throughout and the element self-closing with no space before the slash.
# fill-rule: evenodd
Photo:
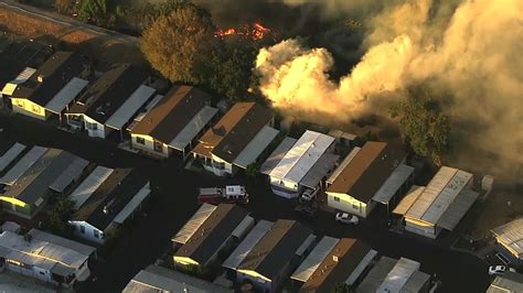
<svg viewBox="0 0 523 293">
<path fill-rule="evenodd" d="M 53 234 L 71 237 L 73 235 L 73 227 L 68 220 L 74 213 L 74 202 L 66 197 L 58 197 L 53 209 L 47 213 L 46 226 Z"/>
</svg>

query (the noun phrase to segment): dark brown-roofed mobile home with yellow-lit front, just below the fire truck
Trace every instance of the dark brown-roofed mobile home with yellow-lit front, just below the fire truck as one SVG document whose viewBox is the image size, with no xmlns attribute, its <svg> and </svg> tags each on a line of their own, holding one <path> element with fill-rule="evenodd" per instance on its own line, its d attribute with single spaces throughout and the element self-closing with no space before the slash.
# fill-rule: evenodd
<svg viewBox="0 0 523 293">
<path fill-rule="evenodd" d="M 193 223 L 188 223 L 192 225 Z M 185 227 L 192 234 L 173 256 L 174 265 L 190 270 L 206 268 L 217 262 L 221 251 L 231 249 L 253 227 L 247 210 L 232 204 L 221 204 L 200 226 Z M 174 243 L 177 245 L 177 243 Z"/>
</svg>

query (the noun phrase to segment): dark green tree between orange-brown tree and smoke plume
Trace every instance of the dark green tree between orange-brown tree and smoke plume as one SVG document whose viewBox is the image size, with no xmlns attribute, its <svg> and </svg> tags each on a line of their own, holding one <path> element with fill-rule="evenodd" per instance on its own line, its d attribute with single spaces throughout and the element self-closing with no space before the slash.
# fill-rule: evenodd
<svg viewBox="0 0 523 293">
<path fill-rule="evenodd" d="M 233 101 L 244 100 L 252 80 L 256 52 L 252 47 L 234 47 L 215 52 L 209 87 Z"/>
</svg>

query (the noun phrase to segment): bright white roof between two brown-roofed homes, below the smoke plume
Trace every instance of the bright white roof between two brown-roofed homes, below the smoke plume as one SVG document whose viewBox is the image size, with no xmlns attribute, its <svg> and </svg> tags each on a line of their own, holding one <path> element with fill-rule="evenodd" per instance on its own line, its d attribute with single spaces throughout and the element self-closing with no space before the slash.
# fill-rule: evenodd
<svg viewBox="0 0 523 293">
<path fill-rule="evenodd" d="M 307 130 L 269 176 L 299 183 L 333 142 L 332 137 Z"/>
</svg>

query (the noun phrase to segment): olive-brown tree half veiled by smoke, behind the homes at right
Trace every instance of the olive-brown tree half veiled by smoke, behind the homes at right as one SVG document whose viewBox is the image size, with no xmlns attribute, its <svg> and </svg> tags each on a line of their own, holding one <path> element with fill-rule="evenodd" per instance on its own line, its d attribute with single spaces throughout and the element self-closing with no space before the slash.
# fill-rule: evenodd
<svg viewBox="0 0 523 293">
<path fill-rule="evenodd" d="M 399 119 L 403 140 L 415 153 L 439 162 L 450 148 L 449 119 L 426 89 L 410 89 L 406 94 L 403 101 L 391 107 L 392 117 Z"/>
</svg>

